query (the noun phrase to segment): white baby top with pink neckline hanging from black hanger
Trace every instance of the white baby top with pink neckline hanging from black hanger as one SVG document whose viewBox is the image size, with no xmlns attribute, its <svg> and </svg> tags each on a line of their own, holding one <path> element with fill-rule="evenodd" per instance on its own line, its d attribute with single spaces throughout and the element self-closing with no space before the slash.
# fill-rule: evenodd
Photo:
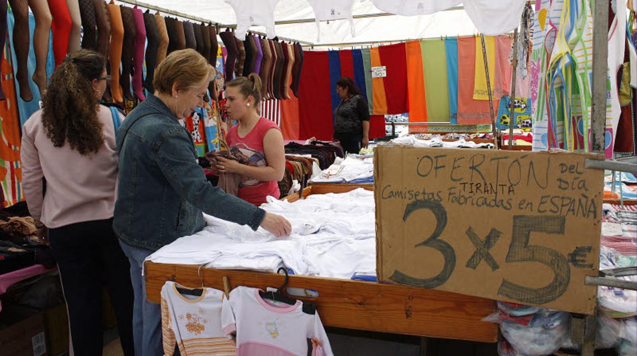
<svg viewBox="0 0 637 356">
<path fill-rule="evenodd" d="M 236 287 L 227 304 L 222 326 L 226 334 L 236 332 L 237 356 L 307 355 L 307 339 L 312 355 L 333 355 L 318 313 L 304 313 L 301 301 L 278 303 L 263 299 L 257 288 Z"/>
</svg>

